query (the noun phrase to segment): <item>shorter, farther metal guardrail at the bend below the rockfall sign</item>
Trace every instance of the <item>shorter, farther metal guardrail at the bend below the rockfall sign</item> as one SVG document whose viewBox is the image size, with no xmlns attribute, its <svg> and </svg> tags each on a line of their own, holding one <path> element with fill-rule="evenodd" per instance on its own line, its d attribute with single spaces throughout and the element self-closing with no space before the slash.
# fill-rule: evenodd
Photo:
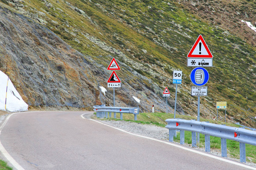
<svg viewBox="0 0 256 170">
<path fill-rule="evenodd" d="M 120 119 L 123 120 L 123 113 L 134 114 L 134 120 L 137 120 L 137 114 L 139 114 L 139 108 L 123 108 L 123 107 L 105 107 L 105 105 L 94 105 L 93 111 L 96 111 L 98 118 L 108 118 L 114 113 L 114 118 L 117 118 L 117 113 L 120 113 Z"/>
</svg>

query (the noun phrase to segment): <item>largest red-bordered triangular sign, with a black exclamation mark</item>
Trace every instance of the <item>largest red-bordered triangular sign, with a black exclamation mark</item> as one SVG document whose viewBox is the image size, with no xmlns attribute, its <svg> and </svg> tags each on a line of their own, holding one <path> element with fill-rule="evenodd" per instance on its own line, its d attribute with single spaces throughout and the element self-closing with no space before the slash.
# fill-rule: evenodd
<svg viewBox="0 0 256 170">
<path fill-rule="evenodd" d="M 195 44 L 192 46 L 190 52 L 187 57 L 191 58 L 213 58 L 212 53 L 204 41 L 202 35 L 199 35 Z"/>
</svg>

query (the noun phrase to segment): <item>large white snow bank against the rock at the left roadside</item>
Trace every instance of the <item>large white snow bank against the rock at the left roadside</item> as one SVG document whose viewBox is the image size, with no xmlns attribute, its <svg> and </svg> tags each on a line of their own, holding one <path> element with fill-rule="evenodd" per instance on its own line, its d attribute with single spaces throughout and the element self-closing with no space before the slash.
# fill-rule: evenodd
<svg viewBox="0 0 256 170">
<path fill-rule="evenodd" d="M 18 91 L 9 79 L 6 97 L 6 86 L 8 76 L 0 71 L 0 110 L 7 112 L 23 112 L 27 111 L 28 105 L 23 101 Z M 7 99 L 7 100 L 6 100 Z M 6 109 L 5 109 L 6 100 Z"/>
</svg>

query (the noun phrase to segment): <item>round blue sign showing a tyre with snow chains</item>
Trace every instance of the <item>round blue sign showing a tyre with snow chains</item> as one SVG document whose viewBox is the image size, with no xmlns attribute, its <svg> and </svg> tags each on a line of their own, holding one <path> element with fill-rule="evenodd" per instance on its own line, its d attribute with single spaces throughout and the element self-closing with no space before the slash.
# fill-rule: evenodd
<svg viewBox="0 0 256 170">
<path fill-rule="evenodd" d="M 196 67 L 191 71 L 190 79 L 196 86 L 204 86 L 209 80 L 209 73 L 203 67 Z"/>
</svg>

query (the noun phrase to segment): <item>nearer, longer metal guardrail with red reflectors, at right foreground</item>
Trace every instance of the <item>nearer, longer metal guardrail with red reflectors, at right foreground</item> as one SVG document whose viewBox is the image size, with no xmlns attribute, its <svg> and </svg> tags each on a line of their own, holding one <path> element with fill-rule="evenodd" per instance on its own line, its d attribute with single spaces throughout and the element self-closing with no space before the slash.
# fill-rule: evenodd
<svg viewBox="0 0 256 170">
<path fill-rule="evenodd" d="M 205 135 L 205 151 L 210 152 L 210 136 L 221 138 L 221 155 L 227 157 L 226 139 L 240 142 L 240 162 L 246 162 L 245 144 L 256 146 L 256 131 L 210 124 L 195 120 L 167 119 L 169 141 L 174 141 L 175 130 L 180 130 L 180 144 L 184 144 L 184 131 L 192 132 L 192 147 L 196 147 L 196 133 Z"/>
</svg>

